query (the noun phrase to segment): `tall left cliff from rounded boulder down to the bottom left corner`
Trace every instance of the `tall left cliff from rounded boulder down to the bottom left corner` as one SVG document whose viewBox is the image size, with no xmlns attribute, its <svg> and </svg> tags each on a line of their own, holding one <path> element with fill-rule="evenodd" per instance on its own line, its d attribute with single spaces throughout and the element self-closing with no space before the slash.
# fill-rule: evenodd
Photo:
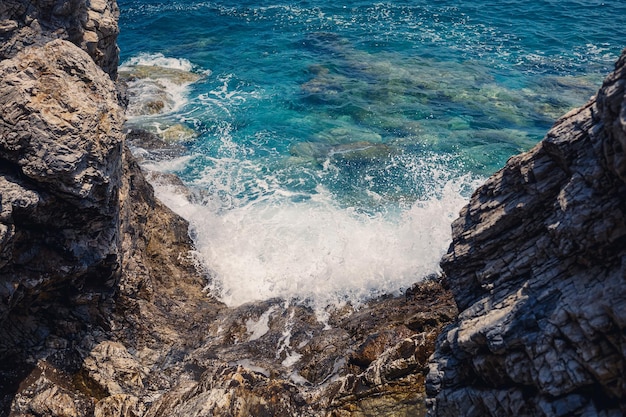
<svg viewBox="0 0 626 417">
<path fill-rule="evenodd" d="M 18 6 L 0 11 L 41 12 Z M 110 77 L 38 39 L 0 62 L 0 414 L 143 415 L 195 377 L 184 352 L 222 305 L 202 290 L 188 224 L 123 149 Z M 28 382 L 41 360 L 66 377 Z"/>
</svg>

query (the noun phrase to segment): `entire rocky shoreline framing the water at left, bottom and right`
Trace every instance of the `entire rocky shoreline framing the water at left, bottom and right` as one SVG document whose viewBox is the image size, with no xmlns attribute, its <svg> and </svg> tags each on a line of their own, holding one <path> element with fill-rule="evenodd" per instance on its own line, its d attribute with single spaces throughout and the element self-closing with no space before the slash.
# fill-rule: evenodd
<svg viewBox="0 0 626 417">
<path fill-rule="evenodd" d="M 626 55 L 477 190 L 445 278 L 322 323 L 203 290 L 127 147 L 118 15 L 0 4 L 0 415 L 626 413 Z"/>
</svg>

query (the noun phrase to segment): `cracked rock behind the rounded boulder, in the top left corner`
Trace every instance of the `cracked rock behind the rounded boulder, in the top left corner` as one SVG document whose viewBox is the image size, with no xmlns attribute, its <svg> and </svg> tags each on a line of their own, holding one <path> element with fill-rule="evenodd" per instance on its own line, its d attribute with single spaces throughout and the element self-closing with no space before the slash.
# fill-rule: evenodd
<svg viewBox="0 0 626 417">
<path fill-rule="evenodd" d="M 2 0 L 0 60 L 30 45 L 65 39 L 116 79 L 118 17 L 115 0 Z"/>
</svg>

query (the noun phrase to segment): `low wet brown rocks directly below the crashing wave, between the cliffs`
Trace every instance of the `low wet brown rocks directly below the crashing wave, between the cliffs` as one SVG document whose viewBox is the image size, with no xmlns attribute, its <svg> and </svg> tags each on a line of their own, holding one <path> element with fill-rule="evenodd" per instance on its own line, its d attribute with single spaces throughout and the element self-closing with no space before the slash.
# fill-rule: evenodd
<svg viewBox="0 0 626 417">
<path fill-rule="evenodd" d="M 146 415 L 423 415 L 428 357 L 455 315 L 437 279 L 327 323 L 282 300 L 223 309 Z"/>
</svg>

